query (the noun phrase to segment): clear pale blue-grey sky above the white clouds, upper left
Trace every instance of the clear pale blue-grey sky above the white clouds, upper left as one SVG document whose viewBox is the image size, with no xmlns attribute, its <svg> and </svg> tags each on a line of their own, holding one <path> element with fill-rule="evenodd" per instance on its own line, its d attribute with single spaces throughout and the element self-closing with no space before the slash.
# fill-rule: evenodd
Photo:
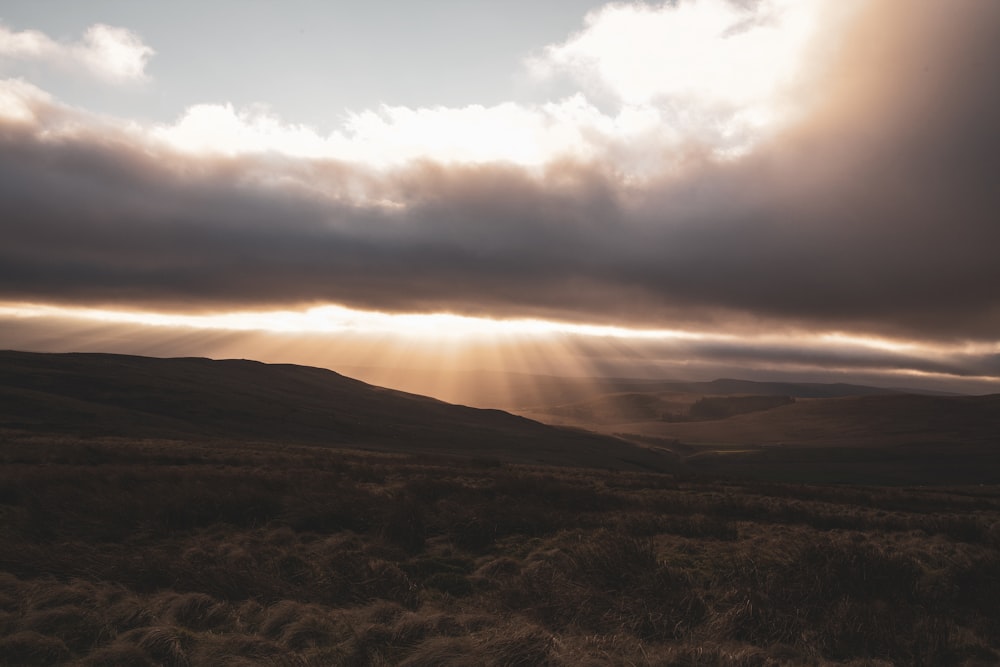
<svg viewBox="0 0 1000 667">
<path fill-rule="evenodd" d="M 266 104 L 317 132 L 347 111 L 542 99 L 522 60 L 576 30 L 599 0 L 133 0 L 5 3 L 0 23 L 59 44 L 92 26 L 126 29 L 155 49 L 153 85 L 112 90 L 60 68 L 0 59 L 63 101 L 97 112 L 171 122 L 196 104 Z M 2 37 L 0 37 L 2 39 Z M 542 96 L 541 98 L 539 96 Z"/>
</svg>

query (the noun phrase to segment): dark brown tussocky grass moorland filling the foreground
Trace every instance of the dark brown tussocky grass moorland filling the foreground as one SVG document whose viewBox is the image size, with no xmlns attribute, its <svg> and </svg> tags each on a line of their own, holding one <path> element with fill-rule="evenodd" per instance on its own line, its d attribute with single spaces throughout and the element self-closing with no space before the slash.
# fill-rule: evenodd
<svg viewBox="0 0 1000 667">
<path fill-rule="evenodd" d="M 1000 487 L 0 436 L 3 665 L 992 665 Z"/>
</svg>

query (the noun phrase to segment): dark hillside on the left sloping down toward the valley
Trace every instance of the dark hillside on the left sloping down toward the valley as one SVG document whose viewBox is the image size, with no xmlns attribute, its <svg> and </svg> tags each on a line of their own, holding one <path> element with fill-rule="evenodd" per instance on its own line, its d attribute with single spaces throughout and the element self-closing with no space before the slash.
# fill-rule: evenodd
<svg viewBox="0 0 1000 667">
<path fill-rule="evenodd" d="M 242 439 L 660 469 L 663 454 L 372 386 L 246 360 L 0 352 L 0 429 L 74 437 Z"/>
</svg>

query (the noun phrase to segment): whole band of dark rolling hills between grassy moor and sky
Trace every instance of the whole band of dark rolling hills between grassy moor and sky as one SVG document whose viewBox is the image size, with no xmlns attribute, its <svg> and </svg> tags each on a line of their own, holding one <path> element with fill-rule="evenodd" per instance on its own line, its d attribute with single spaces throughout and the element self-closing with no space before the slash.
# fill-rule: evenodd
<svg viewBox="0 0 1000 667">
<path fill-rule="evenodd" d="M 1000 395 L 621 379 L 601 386 L 622 391 L 594 394 L 589 381 L 550 380 L 543 394 L 582 398 L 517 416 L 320 368 L 7 351 L 0 436 L 262 442 L 799 481 L 1000 480 Z"/>
</svg>

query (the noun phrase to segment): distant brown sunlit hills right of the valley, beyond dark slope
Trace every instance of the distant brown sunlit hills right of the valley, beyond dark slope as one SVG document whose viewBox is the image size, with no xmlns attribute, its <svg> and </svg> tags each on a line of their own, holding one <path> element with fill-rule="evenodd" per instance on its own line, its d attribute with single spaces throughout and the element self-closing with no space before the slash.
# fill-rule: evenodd
<svg viewBox="0 0 1000 667">
<path fill-rule="evenodd" d="M 1000 482 L 997 394 L 631 392 L 522 414 L 669 449 L 689 473 L 824 483 Z"/>
</svg>

